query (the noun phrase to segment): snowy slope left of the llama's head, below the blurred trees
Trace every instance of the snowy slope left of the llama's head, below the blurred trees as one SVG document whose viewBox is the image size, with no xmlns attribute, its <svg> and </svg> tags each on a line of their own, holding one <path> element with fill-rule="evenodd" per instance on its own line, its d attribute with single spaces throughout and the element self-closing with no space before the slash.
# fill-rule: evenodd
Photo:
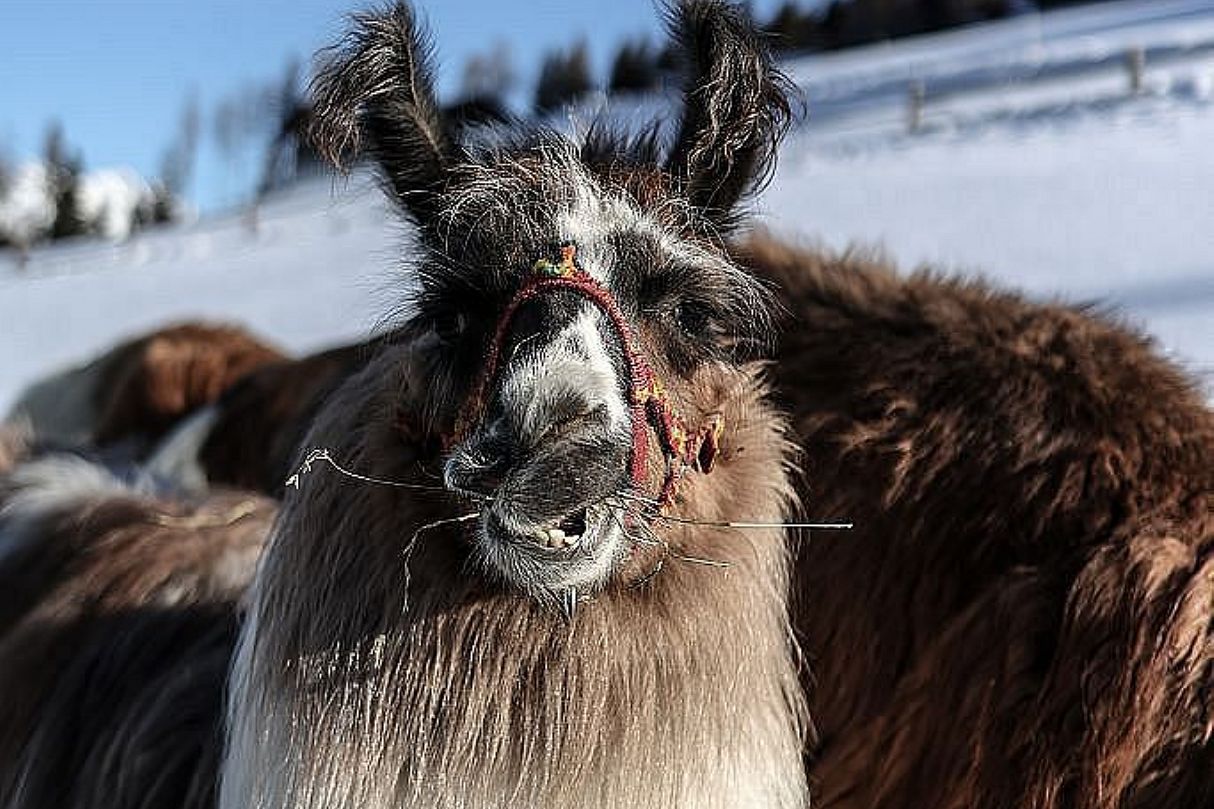
<svg viewBox="0 0 1214 809">
<path fill-rule="evenodd" d="M 243 323 L 294 351 L 365 336 L 398 307 L 401 228 L 374 188 L 328 181 L 231 215 L 35 251 L 0 270 L 0 411 L 49 369 L 171 321 Z"/>
</svg>

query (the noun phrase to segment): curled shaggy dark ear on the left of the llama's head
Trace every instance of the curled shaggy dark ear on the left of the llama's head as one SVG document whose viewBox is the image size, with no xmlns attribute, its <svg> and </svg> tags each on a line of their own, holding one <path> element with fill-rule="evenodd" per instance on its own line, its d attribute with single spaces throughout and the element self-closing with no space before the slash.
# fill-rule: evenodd
<svg viewBox="0 0 1214 809">
<path fill-rule="evenodd" d="M 455 154 L 435 97 L 430 46 L 403 2 L 351 19 L 312 83 L 310 135 L 339 169 L 369 154 L 397 203 L 425 221 Z"/>
</svg>

